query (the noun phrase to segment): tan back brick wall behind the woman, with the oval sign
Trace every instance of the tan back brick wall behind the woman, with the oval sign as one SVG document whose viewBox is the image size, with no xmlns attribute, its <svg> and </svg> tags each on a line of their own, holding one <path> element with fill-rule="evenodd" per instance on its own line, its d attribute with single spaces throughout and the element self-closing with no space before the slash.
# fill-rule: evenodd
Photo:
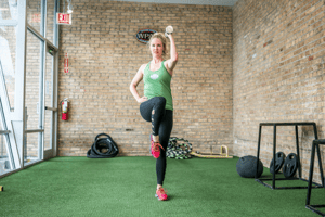
<svg viewBox="0 0 325 217">
<path fill-rule="evenodd" d="M 232 9 L 131 2 L 74 1 L 73 25 L 60 35 L 60 100 L 69 98 L 69 120 L 58 117 L 58 155 L 82 155 L 106 132 L 121 155 L 150 155 L 151 124 L 142 119 L 129 85 L 151 54 L 140 29 L 174 27 L 179 63 L 171 89 L 171 136 L 195 150 L 232 150 Z M 63 72 L 64 54 L 69 73 Z M 138 88 L 143 94 L 143 82 Z"/>
</svg>

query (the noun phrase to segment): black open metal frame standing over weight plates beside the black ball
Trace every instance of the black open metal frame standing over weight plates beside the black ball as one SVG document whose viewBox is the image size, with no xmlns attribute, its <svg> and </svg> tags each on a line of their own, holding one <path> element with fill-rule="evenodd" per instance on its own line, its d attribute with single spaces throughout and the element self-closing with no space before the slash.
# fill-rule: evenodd
<svg viewBox="0 0 325 217">
<path fill-rule="evenodd" d="M 258 181 L 259 183 L 269 187 L 271 189 L 307 189 L 308 187 L 275 187 L 275 180 L 302 180 L 307 181 L 307 179 L 301 178 L 301 164 L 300 164 L 300 155 L 299 155 L 299 140 L 298 140 L 298 126 L 313 126 L 314 129 L 314 136 L 315 140 L 318 139 L 317 136 L 317 128 L 315 123 L 260 123 L 259 127 L 259 140 L 258 140 L 258 152 L 257 152 L 257 162 L 260 159 L 260 146 L 261 146 L 261 133 L 262 133 L 262 127 L 263 126 L 273 126 L 273 168 L 275 169 L 275 153 L 276 153 L 276 127 L 277 126 L 295 126 L 296 130 L 296 149 L 297 149 L 297 157 L 298 157 L 298 174 L 299 178 L 275 178 L 275 173 L 273 173 L 272 179 L 259 179 L 258 178 L 258 169 L 259 169 L 259 164 L 257 164 L 257 170 L 255 175 L 255 180 Z M 318 166 L 321 170 L 321 179 L 322 179 L 322 184 L 312 182 L 314 186 L 311 188 L 323 188 L 324 187 L 324 176 L 323 176 L 323 168 L 322 168 L 322 158 L 321 158 L 321 153 L 320 149 L 317 149 L 317 154 L 318 154 Z M 271 181 L 272 180 L 272 186 L 265 183 L 264 181 Z"/>
</svg>

